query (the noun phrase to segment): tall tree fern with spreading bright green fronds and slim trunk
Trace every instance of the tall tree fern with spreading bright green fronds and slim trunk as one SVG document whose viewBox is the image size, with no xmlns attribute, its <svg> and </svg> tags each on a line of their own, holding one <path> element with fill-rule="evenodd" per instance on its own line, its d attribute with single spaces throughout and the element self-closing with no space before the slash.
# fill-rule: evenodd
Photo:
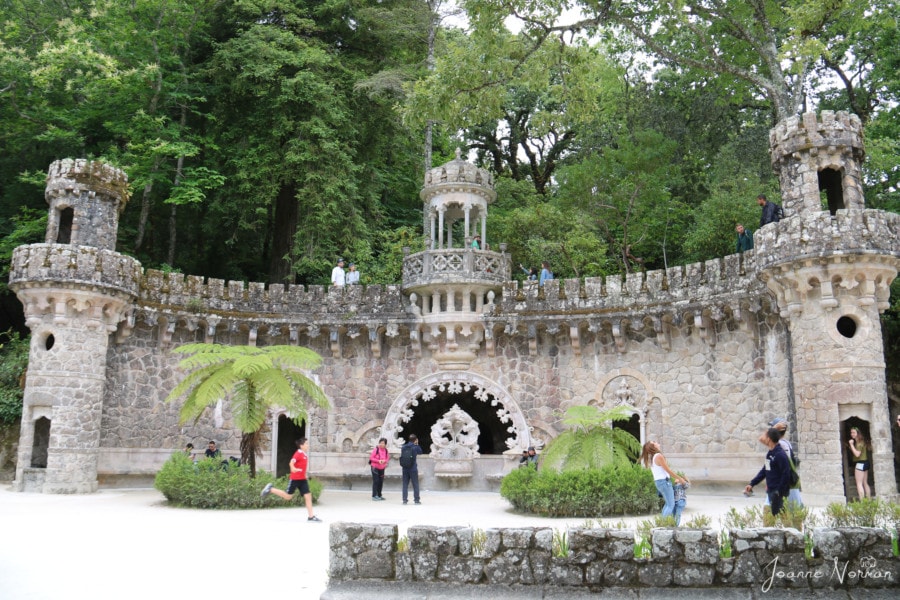
<svg viewBox="0 0 900 600">
<path fill-rule="evenodd" d="M 180 414 L 183 424 L 196 422 L 207 408 L 228 400 L 234 424 L 243 434 L 241 462 L 250 465 L 251 477 L 256 476 L 259 432 L 269 409 L 284 408 L 300 424 L 306 420 L 309 403 L 329 406 L 310 376 L 322 364 L 322 357 L 309 348 L 185 344 L 172 352 L 187 355 L 178 363 L 187 375 L 166 402 L 185 397 Z"/>
</svg>

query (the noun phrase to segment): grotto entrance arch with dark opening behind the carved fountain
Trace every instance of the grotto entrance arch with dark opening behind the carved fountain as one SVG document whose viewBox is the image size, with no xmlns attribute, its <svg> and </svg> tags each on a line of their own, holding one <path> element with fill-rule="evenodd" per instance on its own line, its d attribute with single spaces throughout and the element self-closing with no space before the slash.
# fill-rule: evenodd
<svg viewBox="0 0 900 600">
<path fill-rule="evenodd" d="M 406 388 L 391 405 L 382 434 L 398 451 L 410 434 L 431 450 L 431 427 L 453 406 L 478 423 L 478 453 L 520 454 L 531 444 L 525 415 L 497 383 L 465 371 L 435 373 Z"/>
</svg>

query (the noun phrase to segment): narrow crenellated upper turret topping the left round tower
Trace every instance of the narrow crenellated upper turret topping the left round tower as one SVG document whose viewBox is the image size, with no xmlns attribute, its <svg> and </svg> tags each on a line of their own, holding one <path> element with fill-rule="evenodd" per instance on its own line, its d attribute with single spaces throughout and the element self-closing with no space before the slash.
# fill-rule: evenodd
<svg viewBox="0 0 900 600">
<path fill-rule="evenodd" d="M 116 249 L 128 176 L 99 161 L 58 160 L 47 171 L 46 243 Z"/>
</svg>

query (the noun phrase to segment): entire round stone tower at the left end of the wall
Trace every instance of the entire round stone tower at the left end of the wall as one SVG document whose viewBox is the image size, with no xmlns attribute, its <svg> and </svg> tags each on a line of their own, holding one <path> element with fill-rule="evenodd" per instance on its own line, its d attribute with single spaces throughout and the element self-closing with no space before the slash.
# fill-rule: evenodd
<svg viewBox="0 0 900 600">
<path fill-rule="evenodd" d="M 62 160 L 50 165 L 45 195 L 46 243 L 16 248 L 9 276 L 32 334 L 13 487 L 93 492 L 109 338 L 141 280 L 140 263 L 115 251 L 128 179 L 100 162 Z"/>
</svg>

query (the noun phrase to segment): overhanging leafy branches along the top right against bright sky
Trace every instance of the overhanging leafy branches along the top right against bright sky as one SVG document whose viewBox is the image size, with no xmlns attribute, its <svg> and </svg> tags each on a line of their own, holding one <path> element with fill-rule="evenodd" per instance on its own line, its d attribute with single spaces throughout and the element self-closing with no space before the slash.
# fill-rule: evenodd
<svg viewBox="0 0 900 600">
<path fill-rule="evenodd" d="M 768 98 L 780 121 L 799 111 L 807 75 L 823 53 L 826 27 L 854 2 L 466 0 L 464 6 L 482 31 L 517 17 L 535 47 L 613 24 L 665 62 L 749 82 Z"/>
</svg>

